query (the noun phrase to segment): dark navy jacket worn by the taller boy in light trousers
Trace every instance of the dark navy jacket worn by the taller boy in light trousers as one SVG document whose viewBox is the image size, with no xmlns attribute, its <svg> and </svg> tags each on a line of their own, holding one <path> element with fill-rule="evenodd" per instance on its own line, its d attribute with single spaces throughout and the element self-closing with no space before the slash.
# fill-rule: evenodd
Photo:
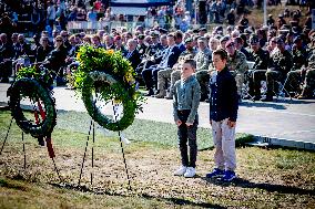
<svg viewBox="0 0 315 209">
<path fill-rule="evenodd" d="M 215 122 L 230 118 L 236 122 L 238 98 L 237 87 L 233 75 L 227 67 L 221 72 L 213 72 L 209 82 L 210 94 L 210 119 Z"/>
</svg>

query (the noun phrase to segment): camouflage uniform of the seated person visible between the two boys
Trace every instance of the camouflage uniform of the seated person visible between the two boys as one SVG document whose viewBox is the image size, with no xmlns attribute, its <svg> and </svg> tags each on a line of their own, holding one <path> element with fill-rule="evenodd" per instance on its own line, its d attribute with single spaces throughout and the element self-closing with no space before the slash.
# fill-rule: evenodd
<svg viewBox="0 0 315 209">
<path fill-rule="evenodd" d="M 194 58 L 196 62 L 196 79 L 201 87 L 201 101 L 207 98 L 209 94 L 209 64 L 211 62 L 211 50 L 205 48 L 204 51 L 199 51 Z"/>
</svg>

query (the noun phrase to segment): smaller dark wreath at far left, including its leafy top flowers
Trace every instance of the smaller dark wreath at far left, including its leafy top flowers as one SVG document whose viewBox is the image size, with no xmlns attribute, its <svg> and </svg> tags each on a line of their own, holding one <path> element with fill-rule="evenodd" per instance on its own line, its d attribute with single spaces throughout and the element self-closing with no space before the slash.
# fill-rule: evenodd
<svg viewBox="0 0 315 209">
<path fill-rule="evenodd" d="M 17 81 L 8 90 L 12 117 L 24 133 L 35 138 L 49 136 L 57 124 L 54 101 L 49 90 L 50 82 L 51 76 L 48 71 L 39 72 L 35 66 L 23 67 L 18 72 Z M 44 105 L 44 113 L 41 113 L 44 115 L 41 121 L 37 118 L 38 123 L 33 124 L 26 117 L 20 105 L 22 97 L 29 97 L 34 103 Z"/>
</svg>

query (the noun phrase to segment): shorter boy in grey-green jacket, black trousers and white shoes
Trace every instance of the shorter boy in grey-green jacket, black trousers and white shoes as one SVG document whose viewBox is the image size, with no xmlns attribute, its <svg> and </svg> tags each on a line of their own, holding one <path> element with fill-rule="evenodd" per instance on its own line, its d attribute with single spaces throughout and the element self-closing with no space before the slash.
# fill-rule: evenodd
<svg viewBox="0 0 315 209">
<path fill-rule="evenodd" d="M 177 136 L 182 159 L 182 166 L 174 175 L 186 178 L 194 177 L 196 174 L 200 85 L 194 76 L 194 60 L 186 60 L 181 70 L 181 80 L 175 83 L 173 88 L 173 116 L 179 128 Z M 190 155 L 187 153 L 187 142 Z"/>
</svg>

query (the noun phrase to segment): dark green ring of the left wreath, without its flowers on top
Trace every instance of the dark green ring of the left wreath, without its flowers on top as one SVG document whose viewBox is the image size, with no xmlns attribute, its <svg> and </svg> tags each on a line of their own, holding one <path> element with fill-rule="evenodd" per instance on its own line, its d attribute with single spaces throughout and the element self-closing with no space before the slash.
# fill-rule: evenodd
<svg viewBox="0 0 315 209">
<path fill-rule="evenodd" d="M 24 77 L 17 80 L 11 85 L 8 91 L 8 96 L 10 96 L 9 106 L 11 115 L 24 133 L 35 138 L 45 137 L 52 133 L 55 125 L 57 113 L 54 101 L 47 87 L 34 79 Z M 45 116 L 38 124 L 26 117 L 20 105 L 22 97 L 29 97 L 33 102 L 43 104 Z"/>
</svg>

